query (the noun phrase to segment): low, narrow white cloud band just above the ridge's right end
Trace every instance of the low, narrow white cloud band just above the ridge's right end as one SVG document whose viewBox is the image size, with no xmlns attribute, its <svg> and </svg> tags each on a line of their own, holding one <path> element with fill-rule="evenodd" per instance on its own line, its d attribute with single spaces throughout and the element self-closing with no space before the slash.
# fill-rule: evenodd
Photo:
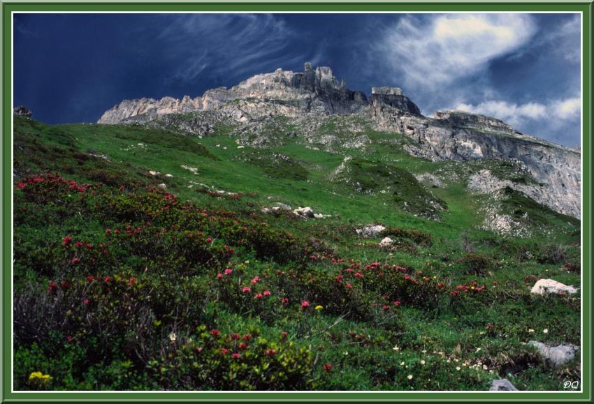
<svg viewBox="0 0 594 404">
<path fill-rule="evenodd" d="M 551 126 L 558 126 L 559 121 L 577 119 L 580 115 L 580 105 L 580 98 L 574 97 L 553 100 L 546 104 L 516 104 L 503 100 L 488 100 L 477 105 L 459 103 L 454 109 L 501 119 L 519 128 L 530 120 L 548 121 Z"/>
</svg>

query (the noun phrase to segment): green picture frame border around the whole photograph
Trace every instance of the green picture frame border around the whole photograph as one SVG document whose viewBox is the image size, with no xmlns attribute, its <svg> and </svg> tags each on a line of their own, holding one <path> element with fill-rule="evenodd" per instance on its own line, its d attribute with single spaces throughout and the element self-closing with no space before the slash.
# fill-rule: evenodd
<svg viewBox="0 0 594 404">
<path fill-rule="evenodd" d="M 2 8 L 2 114 L 1 127 L 3 129 L 1 167 L 2 167 L 2 276 L 1 276 L 1 315 L 2 315 L 2 347 L 1 347 L 1 402 L 41 402 L 41 401 L 94 401 L 94 402 L 122 402 L 122 401 L 592 401 L 591 391 L 591 90 L 592 90 L 592 2 L 573 1 L 571 3 L 560 2 L 523 2 L 509 3 L 503 1 L 489 1 L 485 3 L 430 1 L 425 3 L 410 2 L 224 2 L 224 3 L 113 3 L 113 2 L 3 2 Z M 19 11 L 113 11 L 113 12 L 145 12 L 145 11 L 270 11 L 274 12 L 298 12 L 298 11 L 352 11 L 352 12 L 411 12 L 411 11 L 507 11 L 507 12 L 542 12 L 542 11 L 573 11 L 581 12 L 582 15 L 582 341 L 583 361 L 581 382 L 582 391 L 560 391 L 560 392 L 505 392 L 495 393 L 487 391 L 461 392 L 461 391 L 154 391 L 154 392 L 13 392 L 11 391 L 11 301 L 12 301 L 12 83 L 11 83 L 11 41 L 12 41 L 12 13 Z"/>
</svg>

